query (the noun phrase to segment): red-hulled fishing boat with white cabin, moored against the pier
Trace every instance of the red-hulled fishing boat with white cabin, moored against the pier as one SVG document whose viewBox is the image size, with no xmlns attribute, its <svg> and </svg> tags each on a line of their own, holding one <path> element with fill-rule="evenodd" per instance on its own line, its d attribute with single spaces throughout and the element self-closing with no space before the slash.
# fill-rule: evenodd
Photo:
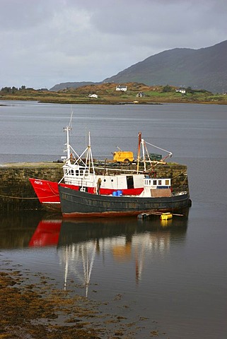
<svg viewBox="0 0 227 339">
<path fill-rule="evenodd" d="M 69 143 L 69 131 L 71 131 L 71 121 L 66 131 L 66 161 L 62 167 L 64 176 L 60 182 L 52 182 L 49 180 L 30 178 L 37 198 L 46 209 L 59 210 L 61 208 L 59 198 L 59 184 L 69 187 L 74 191 L 84 191 L 89 194 L 111 195 L 115 191 L 122 191 L 124 196 L 139 196 L 144 191 L 143 181 L 144 173 L 152 175 L 153 161 L 149 157 L 149 153 L 145 155 L 146 143 L 141 138 L 139 132 L 138 155 L 134 169 L 122 168 L 120 165 L 107 167 L 106 165 L 94 165 L 93 154 L 91 151 L 91 138 L 89 134 L 89 142 L 86 150 L 81 155 L 71 147 Z M 142 147 L 142 161 L 140 158 L 140 149 Z M 172 153 L 165 150 L 168 157 Z M 165 157 L 166 158 L 166 157 Z M 149 163 L 149 169 L 147 165 Z M 140 169 L 139 164 L 142 165 Z M 125 164 L 124 164 L 125 165 Z M 154 184 L 157 188 L 163 187 L 163 182 L 156 180 Z M 166 185 L 164 185 L 166 186 Z M 168 184 L 170 186 L 170 183 Z"/>
</svg>

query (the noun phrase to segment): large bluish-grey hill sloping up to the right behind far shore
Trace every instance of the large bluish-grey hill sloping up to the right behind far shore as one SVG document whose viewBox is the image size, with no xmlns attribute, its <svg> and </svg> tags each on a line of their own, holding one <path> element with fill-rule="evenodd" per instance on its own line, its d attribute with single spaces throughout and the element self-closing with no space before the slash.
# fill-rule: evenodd
<svg viewBox="0 0 227 339">
<path fill-rule="evenodd" d="M 153 55 L 104 82 L 138 82 L 227 91 L 227 40 L 202 49 L 175 48 Z"/>
</svg>

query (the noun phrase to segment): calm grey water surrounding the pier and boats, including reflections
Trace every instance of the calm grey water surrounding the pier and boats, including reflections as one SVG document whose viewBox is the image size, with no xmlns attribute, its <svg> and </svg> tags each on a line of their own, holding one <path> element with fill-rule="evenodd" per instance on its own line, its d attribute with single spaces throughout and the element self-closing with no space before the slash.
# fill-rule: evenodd
<svg viewBox="0 0 227 339">
<path fill-rule="evenodd" d="M 2 103 L 0 164 L 59 159 L 73 109 L 71 145 L 78 153 L 91 131 L 94 157 L 110 158 L 116 146 L 136 155 L 141 131 L 188 166 L 192 208 L 188 220 L 175 217 L 167 225 L 157 218 L 62 222 L 57 215 L 3 215 L 1 268 L 10 262 L 47 273 L 62 289 L 98 301 L 121 295 L 112 309 L 132 321 L 149 319 L 134 338 L 158 329 L 158 338 L 226 339 L 227 107 Z"/>
</svg>

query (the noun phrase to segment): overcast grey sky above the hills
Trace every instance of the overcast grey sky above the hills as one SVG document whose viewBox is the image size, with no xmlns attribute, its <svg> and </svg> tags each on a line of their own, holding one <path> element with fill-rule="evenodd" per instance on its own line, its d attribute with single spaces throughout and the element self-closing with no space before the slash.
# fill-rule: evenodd
<svg viewBox="0 0 227 339">
<path fill-rule="evenodd" d="M 0 88 L 103 81 L 227 40 L 227 0 L 0 0 Z"/>
</svg>

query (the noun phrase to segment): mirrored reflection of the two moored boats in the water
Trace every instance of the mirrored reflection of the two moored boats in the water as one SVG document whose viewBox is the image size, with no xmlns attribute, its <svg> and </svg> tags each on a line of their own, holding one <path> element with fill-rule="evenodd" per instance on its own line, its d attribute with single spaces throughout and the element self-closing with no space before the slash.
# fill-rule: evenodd
<svg viewBox="0 0 227 339">
<path fill-rule="evenodd" d="M 114 263 L 134 263 L 135 280 L 139 283 L 151 254 L 165 255 L 171 242 L 185 242 L 187 218 L 160 220 L 152 216 L 147 220 L 136 218 L 93 218 L 41 220 L 30 240 L 30 246 L 57 246 L 59 263 L 64 269 L 64 289 L 68 277 L 76 278 L 79 286 L 88 286 L 95 258 L 111 257 Z M 63 277 L 62 277 L 63 278 Z M 70 279 L 71 280 L 71 279 Z"/>
</svg>

